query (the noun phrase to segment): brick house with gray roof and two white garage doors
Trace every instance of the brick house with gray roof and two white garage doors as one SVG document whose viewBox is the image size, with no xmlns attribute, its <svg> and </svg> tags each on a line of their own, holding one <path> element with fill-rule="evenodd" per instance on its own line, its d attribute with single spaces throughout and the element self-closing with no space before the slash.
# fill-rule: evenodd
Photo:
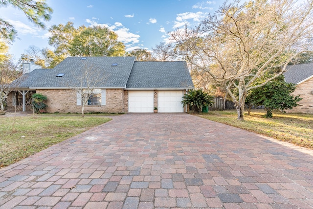
<svg viewBox="0 0 313 209">
<path fill-rule="evenodd" d="M 8 96 L 8 110 L 29 110 L 31 95 L 41 93 L 47 96 L 47 112 L 80 113 L 75 87 L 92 87 L 86 112 L 153 113 L 154 107 L 160 113 L 186 112 L 181 97 L 194 88 L 186 62 L 137 62 L 134 57 L 68 57 L 53 69 L 22 76 Z"/>
</svg>

